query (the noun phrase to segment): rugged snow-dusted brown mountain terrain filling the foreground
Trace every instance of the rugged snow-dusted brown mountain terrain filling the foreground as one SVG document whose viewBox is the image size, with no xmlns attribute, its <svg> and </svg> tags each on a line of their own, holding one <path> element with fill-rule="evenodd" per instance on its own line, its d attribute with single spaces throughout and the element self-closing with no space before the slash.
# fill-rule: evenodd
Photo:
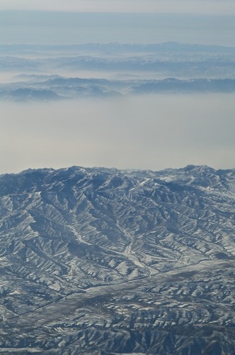
<svg viewBox="0 0 235 355">
<path fill-rule="evenodd" d="M 235 171 L 0 176 L 1 354 L 233 354 Z"/>
</svg>

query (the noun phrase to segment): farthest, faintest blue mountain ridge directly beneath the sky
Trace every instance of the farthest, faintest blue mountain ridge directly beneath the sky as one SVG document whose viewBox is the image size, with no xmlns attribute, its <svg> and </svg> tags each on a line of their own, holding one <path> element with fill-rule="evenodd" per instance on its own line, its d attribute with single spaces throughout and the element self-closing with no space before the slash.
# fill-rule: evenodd
<svg viewBox="0 0 235 355">
<path fill-rule="evenodd" d="M 92 55 L 98 58 L 103 55 L 105 57 L 119 57 L 124 55 L 128 58 L 130 54 L 137 55 L 154 55 L 156 58 L 171 58 L 171 61 L 176 61 L 185 58 L 194 58 L 196 60 L 212 58 L 229 60 L 234 59 L 235 48 L 226 47 L 222 45 L 201 45 L 196 43 L 84 43 L 75 45 L 25 45 L 25 44 L 0 44 L 2 55 L 11 55 L 16 58 L 16 55 L 24 55 L 25 58 L 32 58 L 32 56 L 43 58 L 68 55 Z"/>
</svg>

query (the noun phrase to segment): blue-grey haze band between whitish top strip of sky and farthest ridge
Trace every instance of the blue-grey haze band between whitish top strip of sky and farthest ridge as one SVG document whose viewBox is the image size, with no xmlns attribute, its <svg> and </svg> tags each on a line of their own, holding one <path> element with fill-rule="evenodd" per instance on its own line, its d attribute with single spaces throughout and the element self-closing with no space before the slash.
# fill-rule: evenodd
<svg viewBox="0 0 235 355">
<path fill-rule="evenodd" d="M 190 1 L 191 3 L 191 1 Z M 235 11 L 234 11 L 235 12 Z M 161 43 L 235 46 L 232 13 L 0 11 L 0 43 Z"/>
</svg>

